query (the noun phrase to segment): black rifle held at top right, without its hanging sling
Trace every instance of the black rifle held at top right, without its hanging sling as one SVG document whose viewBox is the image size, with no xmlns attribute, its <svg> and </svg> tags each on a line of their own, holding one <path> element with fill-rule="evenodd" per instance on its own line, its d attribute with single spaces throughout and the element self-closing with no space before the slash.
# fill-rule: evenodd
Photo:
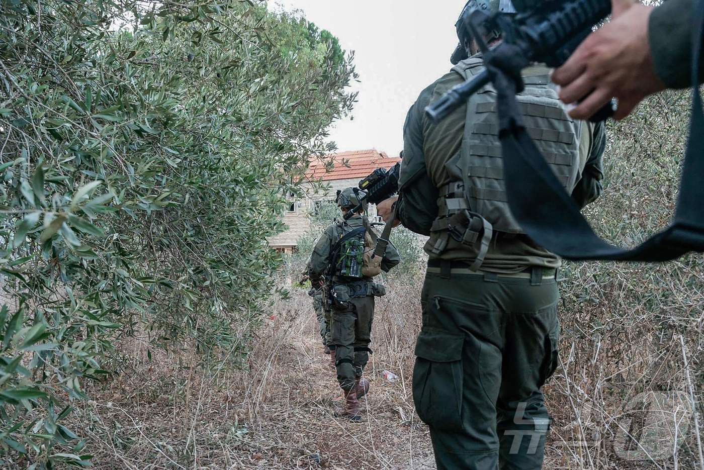
<svg viewBox="0 0 704 470">
<path fill-rule="evenodd" d="M 534 11 L 513 18 L 503 13 L 488 15 L 477 10 L 465 19 L 465 27 L 485 56 L 490 53 L 509 58 L 511 68 L 526 68 L 536 62 L 556 68 L 570 58 L 589 35 L 593 25 L 610 13 L 611 0 L 551 0 L 544 1 Z M 503 41 L 489 51 L 484 35 L 492 30 L 501 32 Z M 425 108 L 425 113 L 433 122 L 440 122 L 493 80 L 491 71 L 484 70 L 472 80 L 449 90 Z M 612 113 L 613 106 L 608 103 L 591 120 L 602 121 Z"/>
</svg>

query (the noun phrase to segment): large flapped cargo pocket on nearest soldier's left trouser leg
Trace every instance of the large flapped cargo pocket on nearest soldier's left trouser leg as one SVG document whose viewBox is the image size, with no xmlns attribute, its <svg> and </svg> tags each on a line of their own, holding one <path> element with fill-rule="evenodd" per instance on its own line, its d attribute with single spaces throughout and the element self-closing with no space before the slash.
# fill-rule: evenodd
<svg viewBox="0 0 704 470">
<path fill-rule="evenodd" d="M 415 345 L 415 409 L 423 422 L 439 431 L 462 430 L 464 341 L 464 336 L 425 327 Z"/>
</svg>

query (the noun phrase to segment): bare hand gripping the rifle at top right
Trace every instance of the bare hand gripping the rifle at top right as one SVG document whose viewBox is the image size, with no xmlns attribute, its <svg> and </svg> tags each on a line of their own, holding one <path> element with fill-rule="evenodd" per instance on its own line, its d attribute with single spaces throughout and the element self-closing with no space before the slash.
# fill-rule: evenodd
<svg viewBox="0 0 704 470">
<path fill-rule="evenodd" d="M 590 34 L 553 72 L 553 82 L 562 87 L 560 99 L 575 104 L 570 110 L 574 119 L 591 117 L 612 97 L 618 99 L 614 118 L 623 119 L 643 98 L 665 89 L 650 56 L 648 20 L 653 7 L 613 0 L 612 11 L 611 22 Z M 584 101 L 576 104 L 580 99 Z"/>
</svg>

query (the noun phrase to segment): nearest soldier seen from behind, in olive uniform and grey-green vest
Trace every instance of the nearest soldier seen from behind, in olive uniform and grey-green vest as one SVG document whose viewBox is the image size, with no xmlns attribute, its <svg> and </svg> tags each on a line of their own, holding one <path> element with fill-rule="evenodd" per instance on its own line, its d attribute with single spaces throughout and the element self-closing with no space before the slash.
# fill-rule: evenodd
<svg viewBox="0 0 704 470">
<path fill-rule="evenodd" d="M 437 125 L 423 112 L 484 70 L 463 21 L 475 8 L 515 13 L 508 0 L 467 3 L 455 67 L 408 112 L 400 197 L 377 210 L 385 219 L 395 210 L 430 236 L 413 398 L 438 469 L 540 469 L 551 423 L 540 388 L 558 365 L 560 260 L 522 233 L 505 202 L 493 87 Z M 501 35 L 485 39 L 497 44 Z M 602 191 L 603 125 L 567 115 L 544 65 L 522 75 L 525 125 L 583 207 Z"/>
</svg>

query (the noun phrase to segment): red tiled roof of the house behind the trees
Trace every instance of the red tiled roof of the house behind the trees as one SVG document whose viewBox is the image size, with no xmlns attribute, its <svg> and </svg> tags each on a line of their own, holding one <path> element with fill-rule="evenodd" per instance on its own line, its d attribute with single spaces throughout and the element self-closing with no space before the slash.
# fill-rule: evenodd
<svg viewBox="0 0 704 470">
<path fill-rule="evenodd" d="M 400 161 L 401 158 L 389 157 L 385 152 L 379 152 L 375 148 L 341 152 L 334 155 L 334 169 L 331 172 L 325 172 L 325 164 L 314 159 L 310 162 L 307 176 L 310 179 L 322 179 L 322 181 L 363 178 L 377 168 L 389 169 Z"/>
</svg>

